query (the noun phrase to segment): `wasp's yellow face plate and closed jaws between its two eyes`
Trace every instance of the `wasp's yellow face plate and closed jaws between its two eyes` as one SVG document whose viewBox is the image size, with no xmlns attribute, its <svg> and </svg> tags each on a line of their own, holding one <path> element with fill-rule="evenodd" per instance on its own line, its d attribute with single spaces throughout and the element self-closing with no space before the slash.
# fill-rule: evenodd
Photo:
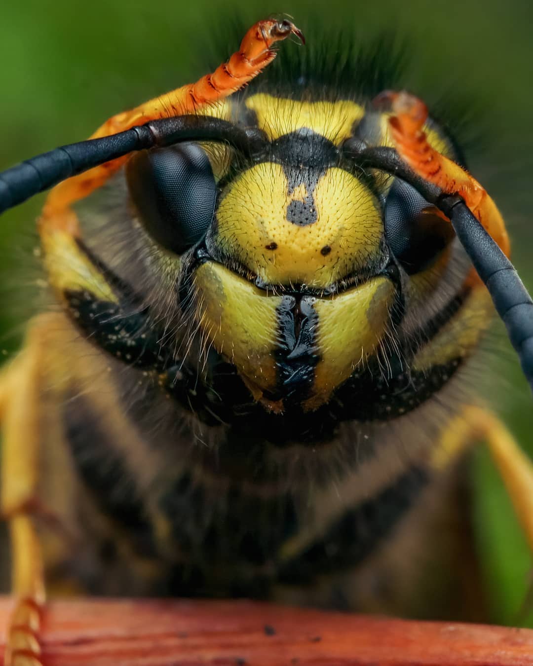
<svg viewBox="0 0 533 666">
<path fill-rule="evenodd" d="M 298 127 L 221 188 L 198 316 L 260 398 L 320 404 L 372 354 L 395 287 L 376 195 Z"/>
</svg>

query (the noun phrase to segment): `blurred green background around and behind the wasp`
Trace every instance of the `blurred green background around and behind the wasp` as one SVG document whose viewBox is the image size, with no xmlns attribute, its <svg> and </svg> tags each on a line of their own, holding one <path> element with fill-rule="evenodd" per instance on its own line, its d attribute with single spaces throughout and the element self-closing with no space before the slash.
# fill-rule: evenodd
<svg viewBox="0 0 533 666">
<path fill-rule="evenodd" d="M 533 287 L 533 4 L 525 1 L 3 2 L 0 169 L 79 141 L 107 117 L 194 80 L 205 73 L 209 58 L 199 54 L 204 47 L 209 52 L 210 35 L 220 41 L 236 17 L 251 24 L 270 13 L 292 15 L 304 31 L 310 22 L 342 26 L 355 39 L 393 29 L 414 54 L 414 92 L 442 87 L 444 96 L 460 91 L 472 100 L 474 125 L 483 131 L 468 153 L 470 168 L 500 204 L 514 260 Z M 228 43 L 228 55 L 235 47 Z M 39 304 L 32 249 L 42 200 L 37 197 L 1 220 L 4 356 L 16 350 L 23 322 Z M 533 455 L 532 398 L 501 327 L 494 328 L 486 343 L 490 360 L 484 361 L 492 368 L 476 370 L 472 382 Z M 488 454 L 479 448 L 475 457 L 475 518 L 494 621 L 533 625 L 532 613 L 520 614 L 530 585 L 530 554 Z"/>
</svg>

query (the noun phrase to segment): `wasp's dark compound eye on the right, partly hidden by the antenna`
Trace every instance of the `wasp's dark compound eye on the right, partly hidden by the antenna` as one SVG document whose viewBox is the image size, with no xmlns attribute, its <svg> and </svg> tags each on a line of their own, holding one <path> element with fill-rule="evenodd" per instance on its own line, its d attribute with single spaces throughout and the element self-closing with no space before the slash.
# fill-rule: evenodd
<svg viewBox="0 0 533 666">
<path fill-rule="evenodd" d="M 408 274 L 427 268 L 450 243 L 450 222 L 431 212 L 421 194 L 396 178 L 385 202 L 385 237 L 388 246 Z"/>
</svg>

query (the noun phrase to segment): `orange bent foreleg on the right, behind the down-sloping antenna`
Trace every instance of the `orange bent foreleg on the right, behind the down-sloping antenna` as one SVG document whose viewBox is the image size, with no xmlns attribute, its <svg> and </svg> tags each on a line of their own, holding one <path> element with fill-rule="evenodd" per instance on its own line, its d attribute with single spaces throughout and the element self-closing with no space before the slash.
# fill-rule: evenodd
<svg viewBox="0 0 533 666">
<path fill-rule="evenodd" d="M 419 176 L 448 194 L 460 194 L 484 229 L 498 243 L 504 254 L 510 254 L 505 222 L 480 183 L 461 166 L 432 148 L 422 129 L 428 118 L 426 105 L 409 93 L 382 93 L 378 101 L 391 104 L 390 133 L 400 157 Z"/>
</svg>

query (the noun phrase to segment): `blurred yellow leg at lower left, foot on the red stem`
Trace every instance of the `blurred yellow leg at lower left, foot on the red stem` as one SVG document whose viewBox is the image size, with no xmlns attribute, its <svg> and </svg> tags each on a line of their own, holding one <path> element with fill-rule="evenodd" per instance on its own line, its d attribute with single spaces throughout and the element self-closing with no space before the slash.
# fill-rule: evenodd
<svg viewBox="0 0 533 666">
<path fill-rule="evenodd" d="M 33 514 L 39 512 L 39 394 L 43 358 L 55 317 L 35 320 L 25 348 L 0 377 L 0 511 L 9 523 L 13 595 L 4 666 L 41 663 L 39 630 L 45 603 L 43 558 Z"/>
</svg>

